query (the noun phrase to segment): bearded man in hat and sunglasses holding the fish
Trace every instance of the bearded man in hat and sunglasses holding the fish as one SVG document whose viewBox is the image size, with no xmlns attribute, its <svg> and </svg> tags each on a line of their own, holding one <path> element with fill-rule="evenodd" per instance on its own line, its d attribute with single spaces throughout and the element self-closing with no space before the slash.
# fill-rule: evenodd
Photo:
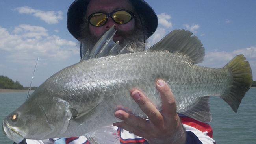
<svg viewBox="0 0 256 144">
<path fill-rule="evenodd" d="M 67 13 L 69 32 L 81 42 L 80 57 L 91 52 L 95 43 L 112 26 L 117 32 L 113 40 L 134 51 L 145 49 L 145 41 L 157 28 L 158 18 L 144 0 L 76 0 Z M 132 68 L 132 67 L 131 67 Z M 208 124 L 178 114 L 174 96 L 163 80 L 156 82 L 162 98 L 159 112 L 140 90 L 131 96 L 148 116 L 148 120 L 119 109 L 115 116 L 122 122 L 119 127 L 121 144 L 213 144 L 212 130 Z M 27 144 L 81 144 L 89 143 L 84 136 L 54 138 L 50 140 L 24 140 Z"/>
</svg>

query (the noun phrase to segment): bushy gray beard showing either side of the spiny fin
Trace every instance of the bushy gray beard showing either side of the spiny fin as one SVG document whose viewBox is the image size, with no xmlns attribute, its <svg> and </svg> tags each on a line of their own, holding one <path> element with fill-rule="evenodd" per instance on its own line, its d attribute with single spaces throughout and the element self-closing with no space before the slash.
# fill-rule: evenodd
<svg viewBox="0 0 256 144">
<path fill-rule="evenodd" d="M 134 30 L 130 33 L 124 33 L 122 31 L 117 31 L 119 35 L 122 35 L 123 41 L 120 42 L 120 46 L 124 47 L 127 45 L 128 50 L 130 52 L 141 52 L 145 50 L 145 43 L 144 43 L 144 34 L 141 30 Z M 82 56 L 85 55 L 87 50 L 91 52 L 93 46 L 96 42 L 100 39 L 100 37 L 95 37 L 93 35 L 83 35 L 83 39 L 80 41 L 82 42 Z"/>
</svg>

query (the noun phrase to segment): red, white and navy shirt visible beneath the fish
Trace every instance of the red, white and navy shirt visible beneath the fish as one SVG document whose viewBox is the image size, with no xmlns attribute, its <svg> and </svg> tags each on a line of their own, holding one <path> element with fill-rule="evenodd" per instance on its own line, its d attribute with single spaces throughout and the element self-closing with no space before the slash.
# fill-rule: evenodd
<svg viewBox="0 0 256 144">
<path fill-rule="evenodd" d="M 213 132 L 209 124 L 186 116 L 180 116 L 180 118 L 187 133 L 186 144 L 215 144 L 215 141 L 212 139 Z M 124 129 L 117 128 L 117 133 L 120 136 L 120 144 L 148 144 L 144 138 L 129 133 Z M 57 141 L 59 144 L 90 144 L 84 136 L 46 140 L 26 139 L 27 144 L 54 144 L 54 142 L 58 143 Z"/>
</svg>

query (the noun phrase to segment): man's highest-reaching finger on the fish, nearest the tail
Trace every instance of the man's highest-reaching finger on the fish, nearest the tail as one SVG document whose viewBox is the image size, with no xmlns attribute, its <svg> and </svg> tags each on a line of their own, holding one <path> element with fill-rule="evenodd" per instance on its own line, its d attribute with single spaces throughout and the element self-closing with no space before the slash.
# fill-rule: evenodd
<svg viewBox="0 0 256 144">
<path fill-rule="evenodd" d="M 156 82 L 156 88 L 162 98 L 162 104 L 163 104 L 162 111 L 168 114 L 176 114 L 177 113 L 176 101 L 169 86 L 165 83 L 165 81 L 159 79 Z"/>
</svg>

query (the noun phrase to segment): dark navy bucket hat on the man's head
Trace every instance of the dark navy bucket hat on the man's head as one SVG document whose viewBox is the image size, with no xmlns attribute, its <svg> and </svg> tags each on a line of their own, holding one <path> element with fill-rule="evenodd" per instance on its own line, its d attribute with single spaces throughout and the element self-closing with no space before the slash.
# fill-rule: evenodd
<svg viewBox="0 0 256 144">
<path fill-rule="evenodd" d="M 69 32 L 76 38 L 80 39 L 80 25 L 85 17 L 86 9 L 90 0 L 75 0 L 69 7 L 67 13 L 67 28 Z M 146 39 L 150 37 L 158 26 L 158 18 L 156 13 L 144 0 L 129 0 L 134 6 L 139 17 L 144 20 L 144 30 Z"/>
</svg>

